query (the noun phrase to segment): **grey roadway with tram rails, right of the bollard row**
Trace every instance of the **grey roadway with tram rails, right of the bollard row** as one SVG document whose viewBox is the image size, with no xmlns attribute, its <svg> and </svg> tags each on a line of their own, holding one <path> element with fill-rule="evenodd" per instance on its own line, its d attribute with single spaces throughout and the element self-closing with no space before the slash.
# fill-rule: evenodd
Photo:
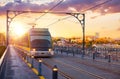
<svg viewBox="0 0 120 79">
<path fill-rule="evenodd" d="M 23 55 L 23 52 L 18 53 Z M 39 59 L 41 58 L 34 59 L 35 68 L 38 68 Z M 120 79 L 120 63 L 82 59 L 79 56 L 60 53 L 51 58 L 42 58 L 42 75 L 46 79 L 52 79 L 51 70 L 54 65 L 58 67 L 58 79 Z"/>
</svg>

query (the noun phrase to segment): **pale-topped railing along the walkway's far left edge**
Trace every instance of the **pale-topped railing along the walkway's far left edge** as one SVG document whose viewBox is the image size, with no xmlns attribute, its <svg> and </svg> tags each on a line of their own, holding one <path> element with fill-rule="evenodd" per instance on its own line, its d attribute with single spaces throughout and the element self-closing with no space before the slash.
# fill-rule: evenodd
<svg viewBox="0 0 120 79">
<path fill-rule="evenodd" d="M 3 77 L 4 77 L 8 48 L 9 47 L 6 48 L 5 52 L 3 53 L 2 57 L 0 58 L 0 79 L 3 79 Z"/>
</svg>

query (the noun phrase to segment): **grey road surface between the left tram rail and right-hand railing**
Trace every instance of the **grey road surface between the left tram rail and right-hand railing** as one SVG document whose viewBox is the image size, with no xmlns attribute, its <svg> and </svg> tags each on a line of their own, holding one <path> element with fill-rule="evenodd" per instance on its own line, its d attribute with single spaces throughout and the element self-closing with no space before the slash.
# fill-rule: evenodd
<svg viewBox="0 0 120 79">
<path fill-rule="evenodd" d="M 73 56 L 55 55 L 44 58 L 51 66 L 57 65 L 59 70 L 71 79 L 119 79 L 120 65 L 81 59 Z"/>
</svg>

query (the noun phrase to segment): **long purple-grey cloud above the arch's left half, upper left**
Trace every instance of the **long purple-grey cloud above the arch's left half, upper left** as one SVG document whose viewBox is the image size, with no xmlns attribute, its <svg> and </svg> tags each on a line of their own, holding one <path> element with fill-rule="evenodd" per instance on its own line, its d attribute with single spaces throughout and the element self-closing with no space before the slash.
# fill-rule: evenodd
<svg viewBox="0 0 120 79">
<path fill-rule="evenodd" d="M 9 2 L 5 6 L 0 7 L 0 14 L 5 14 L 7 10 L 18 10 L 18 11 L 42 11 L 48 8 L 48 5 L 38 5 L 30 3 L 13 3 Z"/>
</svg>

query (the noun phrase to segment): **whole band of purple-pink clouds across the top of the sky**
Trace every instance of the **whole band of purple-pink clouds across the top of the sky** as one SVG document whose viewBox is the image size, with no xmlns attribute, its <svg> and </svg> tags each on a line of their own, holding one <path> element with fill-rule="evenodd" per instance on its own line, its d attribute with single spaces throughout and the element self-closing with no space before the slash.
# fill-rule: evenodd
<svg viewBox="0 0 120 79">
<path fill-rule="evenodd" d="M 101 2 L 106 0 L 65 0 L 61 4 L 59 4 L 52 11 L 71 11 L 70 7 L 74 8 L 75 11 L 81 12 L 89 9 Z M 117 13 L 120 12 L 120 1 L 112 0 L 104 5 L 94 7 L 93 11 L 101 12 L 101 13 Z M 5 14 L 6 10 L 34 10 L 34 11 L 45 11 L 52 8 L 56 5 L 56 2 L 51 2 L 47 4 L 32 4 L 32 3 L 14 3 L 9 2 L 5 6 L 0 6 L 0 14 Z"/>
</svg>

